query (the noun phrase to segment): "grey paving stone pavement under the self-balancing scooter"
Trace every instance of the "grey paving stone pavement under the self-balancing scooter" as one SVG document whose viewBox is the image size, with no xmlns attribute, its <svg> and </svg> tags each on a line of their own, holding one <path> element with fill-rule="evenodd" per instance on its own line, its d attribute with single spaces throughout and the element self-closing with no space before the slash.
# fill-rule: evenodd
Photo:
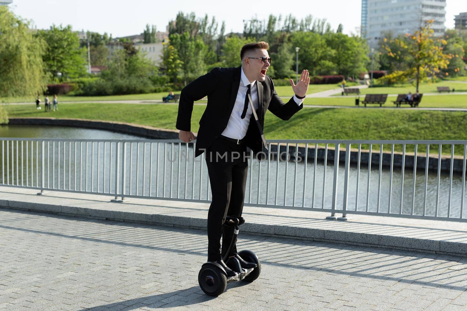
<svg viewBox="0 0 467 311">
<path fill-rule="evenodd" d="M 204 295 L 205 231 L 0 210 L 0 309 L 466 310 L 467 258 L 256 235 L 253 283 Z"/>
</svg>

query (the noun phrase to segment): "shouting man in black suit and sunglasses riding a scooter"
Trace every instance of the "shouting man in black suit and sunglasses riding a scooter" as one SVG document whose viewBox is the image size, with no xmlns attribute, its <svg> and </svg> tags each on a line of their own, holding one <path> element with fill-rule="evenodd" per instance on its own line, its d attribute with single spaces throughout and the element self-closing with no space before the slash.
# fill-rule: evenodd
<svg viewBox="0 0 467 311">
<path fill-rule="evenodd" d="M 233 237 L 233 227 L 222 225 L 226 215 L 241 216 L 245 199 L 248 172 L 247 146 L 253 152 L 267 147 L 262 130 L 264 115 L 269 109 L 283 120 L 289 120 L 303 108 L 310 78 L 304 70 L 297 85 L 290 79 L 295 93 L 287 104 L 277 96 L 274 84 L 266 72 L 271 64 L 267 42 L 248 43 L 241 48 L 241 66 L 214 68 L 188 84 L 180 94 L 177 116 L 179 138 L 190 142 L 193 102 L 207 96 L 207 105 L 199 121 L 195 156 L 205 152 L 206 165 L 211 180 L 212 202 L 207 220 L 208 262 L 221 264 L 227 277 L 235 276 L 222 261 Z M 255 107 L 255 112 L 252 109 Z M 220 237 L 223 237 L 222 250 Z M 238 254 L 232 254 L 242 268 L 255 267 Z M 233 256 L 233 255 L 232 255 Z"/>
</svg>

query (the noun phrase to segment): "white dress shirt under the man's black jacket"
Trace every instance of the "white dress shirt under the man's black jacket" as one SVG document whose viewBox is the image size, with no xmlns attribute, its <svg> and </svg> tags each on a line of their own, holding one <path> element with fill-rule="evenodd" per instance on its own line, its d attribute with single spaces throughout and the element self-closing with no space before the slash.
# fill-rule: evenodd
<svg viewBox="0 0 467 311">
<path fill-rule="evenodd" d="M 245 105 L 248 84 L 251 85 L 251 99 L 253 100 L 253 106 L 255 106 L 255 110 L 258 109 L 258 88 L 256 87 L 256 83 L 256 80 L 250 83 L 247 76 L 243 72 L 243 68 L 241 68 L 240 86 L 238 88 L 237 98 L 235 99 L 235 104 L 233 105 L 232 114 L 230 115 L 227 127 L 222 132 L 223 136 L 233 139 L 242 139 L 247 134 L 248 125 L 250 124 L 250 118 L 253 113 L 251 111 L 251 105 L 248 103 L 248 109 L 245 118 L 241 118 L 241 113 L 243 112 L 243 106 Z M 304 100 L 304 98 L 299 99 L 295 95 L 293 99 L 297 105 L 301 105 Z"/>
</svg>

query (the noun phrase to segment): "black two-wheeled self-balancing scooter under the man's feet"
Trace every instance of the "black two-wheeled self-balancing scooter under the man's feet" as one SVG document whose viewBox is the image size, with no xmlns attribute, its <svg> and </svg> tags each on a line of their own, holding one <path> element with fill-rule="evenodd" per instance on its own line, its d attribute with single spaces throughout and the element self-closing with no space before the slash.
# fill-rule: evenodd
<svg viewBox="0 0 467 311">
<path fill-rule="evenodd" d="M 236 216 L 227 216 L 226 222 L 224 222 L 224 226 L 235 227 L 235 230 L 233 231 L 233 238 L 230 242 L 230 246 L 222 260 L 226 263 L 227 267 L 237 272 L 238 275 L 227 278 L 226 270 L 224 270 L 219 263 L 207 262 L 203 264 L 198 273 L 198 283 L 206 295 L 217 297 L 226 290 L 227 283 L 241 280 L 253 282 L 260 276 L 261 263 L 254 252 L 250 250 L 242 250 L 238 252 L 238 255 L 240 255 L 240 257 L 245 261 L 256 263 L 256 267 L 251 269 L 243 269 L 241 268 L 240 262 L 237 258 L 229 258 L 229 256 L 231 256 L 233 244 L 237 242 L 239 226 L 244 222 L 245 220 L 243 217 Z M 227 258 L 229 259 L 227 260 Z"/>
</svg>

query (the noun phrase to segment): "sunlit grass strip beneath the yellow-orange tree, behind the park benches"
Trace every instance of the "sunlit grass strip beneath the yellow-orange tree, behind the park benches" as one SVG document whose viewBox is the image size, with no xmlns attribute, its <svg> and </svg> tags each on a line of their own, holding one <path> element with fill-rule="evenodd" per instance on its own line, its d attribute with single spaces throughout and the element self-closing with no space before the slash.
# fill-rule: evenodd
<svg viewBox="0 0 467 311">
<path fill-rule="evenodd" d="M 448 86 L 449 89 L 455 89 L 456 92 L 467 92 L 467 84 L 443 81 L 439 83 L 421 83 L 418 87 L 420 93 L 438 93 L 438 86 Z M 374 87 L 362 89 L 361 94 L 406 94 L 415 93 L 415 86 L 412 84 L 403 84 L 398 86 Z M 441 93 L 442 94 L 442 93 Z"/>
</svg>

